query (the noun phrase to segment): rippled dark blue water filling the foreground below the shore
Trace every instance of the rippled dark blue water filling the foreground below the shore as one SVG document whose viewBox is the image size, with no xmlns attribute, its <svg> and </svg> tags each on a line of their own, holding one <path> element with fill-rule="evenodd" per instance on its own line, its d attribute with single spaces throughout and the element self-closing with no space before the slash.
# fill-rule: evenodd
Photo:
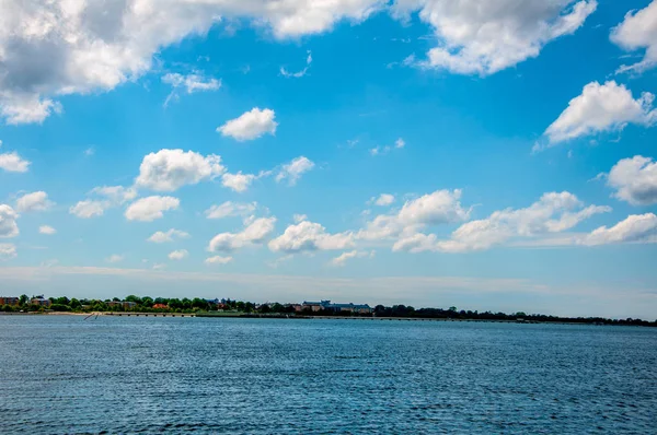
<svg viewBox="0 0 657 435">
<path fill-rule="evenodd" d="M 0 316 L 0 433 L 657 433 L 657 330 Z"/>
</svg>

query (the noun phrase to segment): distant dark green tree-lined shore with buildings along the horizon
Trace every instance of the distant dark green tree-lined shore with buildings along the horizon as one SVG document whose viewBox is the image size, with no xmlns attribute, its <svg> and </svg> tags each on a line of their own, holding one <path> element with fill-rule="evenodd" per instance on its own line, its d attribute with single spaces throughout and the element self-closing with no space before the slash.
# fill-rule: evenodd
<svg viewBox="0 0 657 435">
<path fill-rule="evenodd" d="M 195 315 L 197 317 L 272 317 L 272 318 L 311 318 L 311 317 L 356 317 L 390 319 L 443 319 L 443 320 L 487 320 L 515 322 L 567 322 L 587 325 L 625 325 L 657 327 L 657 320 L 608 319 L 602 317 L 558 317 L 526 313 L 492 313 L 449 308 L 414 308 L 407 305 L 371 307 L 368 304 L 333 303 L 331 301 L 303 301 L 298 304 L 263 303 L 235 301 L 230 298 L 166 298 L 129 295 L 125 298 L 78 299 L 45 297 L 0 296 L 0 314 L 161 314 Z"/>
</svg>

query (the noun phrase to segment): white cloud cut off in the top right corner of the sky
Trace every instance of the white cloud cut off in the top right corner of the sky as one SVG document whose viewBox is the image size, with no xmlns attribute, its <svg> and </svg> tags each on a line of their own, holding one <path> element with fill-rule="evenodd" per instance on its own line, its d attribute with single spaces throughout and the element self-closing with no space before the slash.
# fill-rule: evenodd
<svg viewBox="0 0 657 435">
<path fill-rule="evenodd" d="M 645 49 L 643 60 L 622 66 L 618 73 L 641 73 L 654 68 L 657 64 L 657 1 L 639 11 L 627 12 L 623 22 L 612 28 L 611 40 L 629 51 Z"/>
</svg>

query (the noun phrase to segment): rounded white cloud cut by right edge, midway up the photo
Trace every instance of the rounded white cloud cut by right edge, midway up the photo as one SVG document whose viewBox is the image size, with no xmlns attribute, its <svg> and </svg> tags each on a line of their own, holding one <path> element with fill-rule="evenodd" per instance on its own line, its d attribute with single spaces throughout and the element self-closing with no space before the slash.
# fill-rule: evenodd
<svg viewBox="0 0 657 435">
<path fill-rule="evenodd" d="M 607 185 L 613 187 L 614 197 L 633 205 L 657 203 L 657 162 L 635 155 L 616 163 L 607 176 Z"/>
</svg>

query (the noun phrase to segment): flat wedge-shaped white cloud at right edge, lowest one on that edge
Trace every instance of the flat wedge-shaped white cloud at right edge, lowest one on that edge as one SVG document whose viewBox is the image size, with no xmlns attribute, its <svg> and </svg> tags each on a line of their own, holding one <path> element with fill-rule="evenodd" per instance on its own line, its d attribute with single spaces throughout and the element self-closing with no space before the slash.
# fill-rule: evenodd
<svg viewBox="0 0 657 435">
<path fill-rule="evenodd" d="M 632 214 L 611 228 L 601 226 L 578 240 L 583 245 L 657 243 L 657 215 Z"/>
</svg>

